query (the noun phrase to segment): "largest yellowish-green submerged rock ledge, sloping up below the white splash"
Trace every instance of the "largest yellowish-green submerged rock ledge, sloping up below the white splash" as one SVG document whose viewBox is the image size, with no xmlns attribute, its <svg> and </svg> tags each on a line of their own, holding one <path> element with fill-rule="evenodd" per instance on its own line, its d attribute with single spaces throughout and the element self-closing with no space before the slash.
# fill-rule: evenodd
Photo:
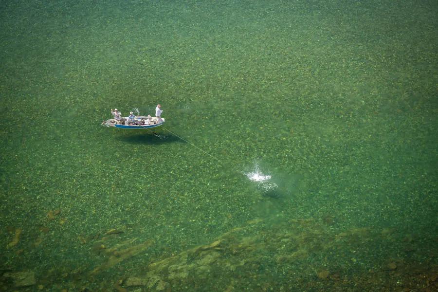
<svg viewBox="0 0 438 292">
<path fill-rule="evenodd" d="M 291 273 L 288 272 L 291 271 L 289 267 L 302 264 L 311 256 L 319 256 L 327 250 L 336 251 L 345 244 L 356 247 L 358 239 L 380 232 L 373 233 L 369 228 L 353 228 L 339 233 L 331 231 L 326 224 L 315 219 L 290 219 L 284 226 L 260 229 L 256 225 L 262 221 L 248 222 L 248 225 L 233 228 L 211 243 L 150 263 L 146 277 L 139 278 L 148 279 L 148 291 L 169 290 L 174 285 L 195 285 L 208 289 L 220 287 L 225 291 L 230 286 L 221 275 L 241 275 L 243 279 L 257 274 L 260 279 L 266 279 L 266 287 L 269 287 L 272 285 L 272 271 Z M 288 267 L 288 270 L 284 267 Z M 389 266 L 389 269 L 394 268 Z M 310 268 L 306 271 L 311 275 L 310 282 L 315 277 L 325 281 L 311 285 L 326 285 L 328 279 L 337 281 L 341 278 L 339 272 L 330 273 L 325 269 L 313 271 L 314 274 Z M 215 284 L 209 282 L 212 278 L 217 280 Z M 165 283 L 172 283 L 172 287 Z M 240 285 L 240 288 L 247 285 L 240 280 L 235 284 Z"/>
</svg>

